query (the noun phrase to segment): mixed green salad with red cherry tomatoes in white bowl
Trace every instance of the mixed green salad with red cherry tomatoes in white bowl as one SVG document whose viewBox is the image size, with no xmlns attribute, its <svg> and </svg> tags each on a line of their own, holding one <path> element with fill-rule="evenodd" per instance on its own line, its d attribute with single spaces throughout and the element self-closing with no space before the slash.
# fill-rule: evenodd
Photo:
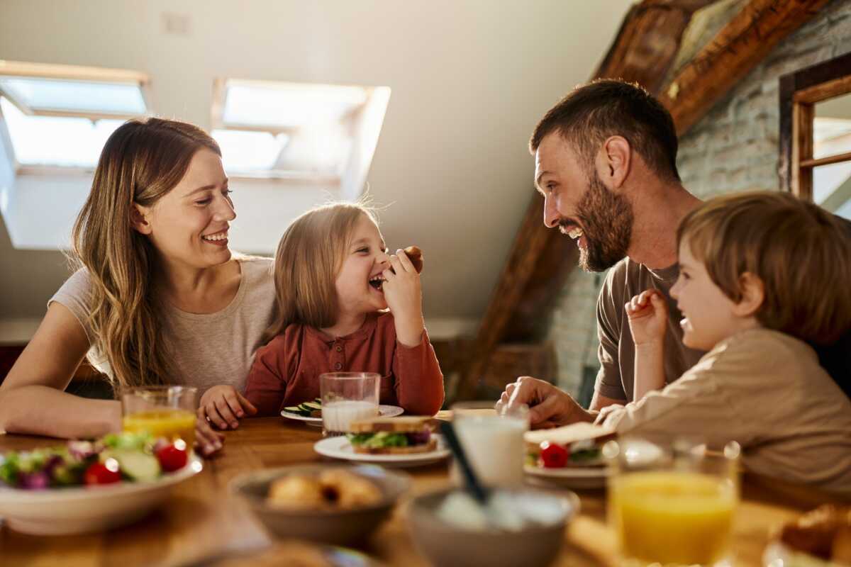
<svg viewBox="0 0 851 567">
<path fill-rule="evenodd" d="M 186 466 L 181 439 L 155 439 L 147 433 L 109 434 L 95 441 L 12 451 L 0 456 L 0 485 L 43 490 L 80 485 L 110 485 L 122 480 L 150 482 Z"/>
</svg>

